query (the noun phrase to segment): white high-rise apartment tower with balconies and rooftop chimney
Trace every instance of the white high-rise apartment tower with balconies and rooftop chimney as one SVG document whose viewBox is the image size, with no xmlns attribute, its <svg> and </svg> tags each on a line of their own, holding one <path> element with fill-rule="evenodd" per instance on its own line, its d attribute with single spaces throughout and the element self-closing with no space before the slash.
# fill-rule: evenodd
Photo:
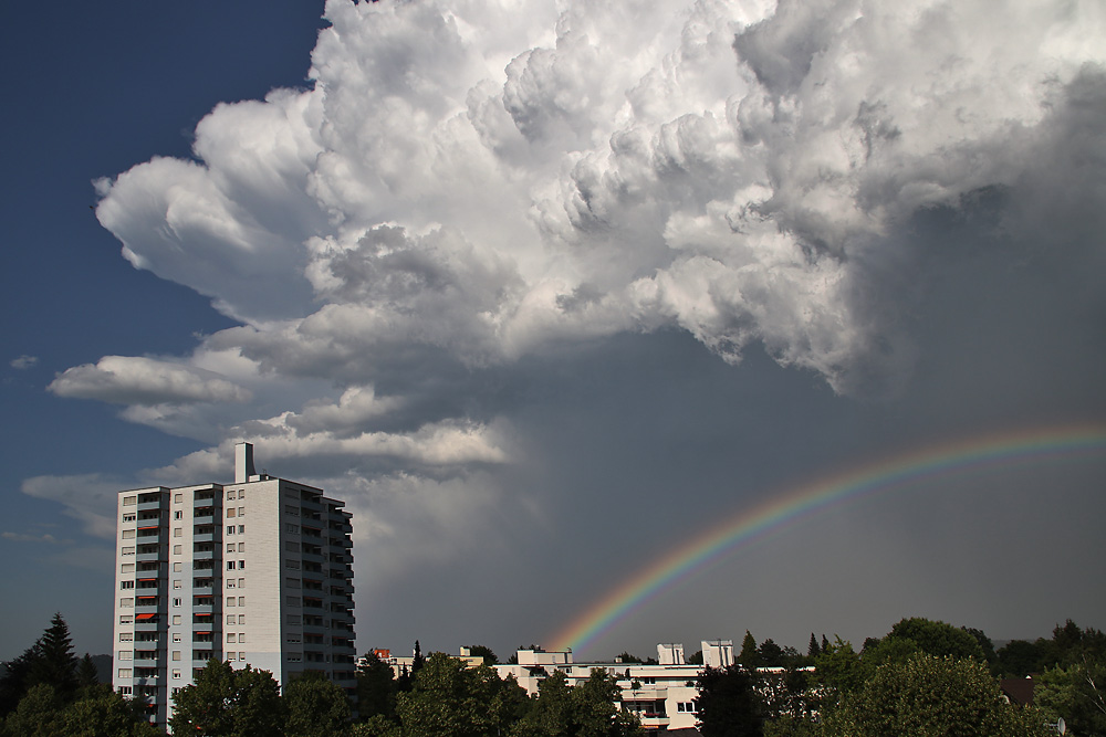
<svg viewBox="0 0 1106 737">
<path fill-rule="evenodd" d="M 234 483 L 119 492 L 115 689 L 167 723 L 173 694 L 208 660 L 281 685 L 320 671 L 354 688 L 351 514 L 322 489 L 253 470 Z"/>
</svg>

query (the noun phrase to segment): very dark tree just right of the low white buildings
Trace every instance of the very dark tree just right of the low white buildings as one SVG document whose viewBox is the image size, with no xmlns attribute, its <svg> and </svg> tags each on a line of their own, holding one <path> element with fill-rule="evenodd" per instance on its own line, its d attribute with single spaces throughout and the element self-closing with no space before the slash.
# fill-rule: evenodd
<svg viewBox="0 0 1106 737">
<path fill-rule="evenodd" d="M 747 639 L 751 639 L 748 635 Z M 752 671 L 740 665 L 708 667 L 699 674 L 695 699 L 703 737 L 760 737 L 764 714 Z"/>
</svg>

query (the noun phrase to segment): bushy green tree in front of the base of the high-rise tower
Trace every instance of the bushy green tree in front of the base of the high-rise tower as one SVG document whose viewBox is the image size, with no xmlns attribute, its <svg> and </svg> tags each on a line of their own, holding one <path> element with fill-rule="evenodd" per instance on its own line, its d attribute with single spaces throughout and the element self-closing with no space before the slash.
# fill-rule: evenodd
<svg viewBox="0 0 1106 737">
<path fill-rule="evenodd" d="M 279 737 L 284 722 L 280 686 L 268 671 L 208 661 L 196 682 L 174 697 L 174 734 Z"/>
</svg>

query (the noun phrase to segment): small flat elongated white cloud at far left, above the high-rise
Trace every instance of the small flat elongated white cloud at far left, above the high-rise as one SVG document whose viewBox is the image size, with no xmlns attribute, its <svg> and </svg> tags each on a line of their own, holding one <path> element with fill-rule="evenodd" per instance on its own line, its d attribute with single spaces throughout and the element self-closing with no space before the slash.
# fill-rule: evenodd
<svg viewBox="0 0 1106 737">
<path fill-rule="evenodd" d="M 59 397 L 142 407 L 250 399 L 247 389 L 211 371 L 132 356 L 105 356 L 95 365 L 66 369 L 48 389 Z"/>
</svg>

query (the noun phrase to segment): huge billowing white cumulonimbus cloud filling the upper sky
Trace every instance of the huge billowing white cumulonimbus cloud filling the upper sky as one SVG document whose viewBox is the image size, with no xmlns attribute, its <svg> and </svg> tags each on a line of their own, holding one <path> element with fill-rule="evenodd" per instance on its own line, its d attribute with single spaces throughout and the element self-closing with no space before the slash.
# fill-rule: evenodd
<svg viewBox="0 0 1106 737">
<path fill-rule="evenodd" d="M 911 359 L 867 262 L 1016 182 L 1103 31 L 1022 0 L 531 4 L 331 0 L 311 90 L 219 106 L 198 162 L 101 182 L 97 214 L 278 371 L 675 325 L 863 393 Z"/>
</svg>

